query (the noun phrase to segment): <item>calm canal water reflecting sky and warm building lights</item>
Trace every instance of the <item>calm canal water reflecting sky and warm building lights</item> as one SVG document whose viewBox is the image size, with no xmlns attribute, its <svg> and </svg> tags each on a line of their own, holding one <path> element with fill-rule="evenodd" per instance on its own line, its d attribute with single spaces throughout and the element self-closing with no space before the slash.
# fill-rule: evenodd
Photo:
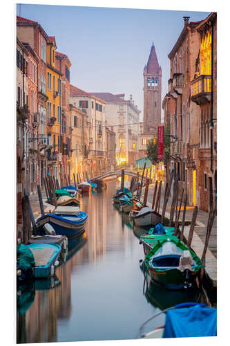
<svg viewBox="0 0 230 346">
<path fill-rule="evenodd" d="M 102 192 L 81 197 L 88 212 L 86 232 L 69 242 L 66 262 L 55 281 L 39 280 L 17 288 L 17 343 L 120 340 L 140 337 L 143 322 L 166 307 L 202 301 L 197 290 L 171 292 L 149 284 L 139 261 L 142 230 L 129 224 L 111 203 L 118 181 Z M 143 331 L 164 324 L 164 314 Z"/>
</svg>

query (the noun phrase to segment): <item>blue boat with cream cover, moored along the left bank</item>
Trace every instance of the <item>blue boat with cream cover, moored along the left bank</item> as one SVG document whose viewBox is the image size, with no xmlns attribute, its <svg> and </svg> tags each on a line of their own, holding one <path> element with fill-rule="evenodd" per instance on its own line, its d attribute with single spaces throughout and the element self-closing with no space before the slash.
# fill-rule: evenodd
<svg viewBox="0 0 230 346">
<path fill-rule="evenodd" d="M 79 236 L 84 233 L 84 227 L 88 215 L 82 212 L 78 207 L 59 206 L 53 214 L 46 214 L 37 219 L 37 228 L 39 233 L 44 234 L 44 225 L 50 224 L 57 235 L 66 235 L 66 237 Z"/>
</svg>

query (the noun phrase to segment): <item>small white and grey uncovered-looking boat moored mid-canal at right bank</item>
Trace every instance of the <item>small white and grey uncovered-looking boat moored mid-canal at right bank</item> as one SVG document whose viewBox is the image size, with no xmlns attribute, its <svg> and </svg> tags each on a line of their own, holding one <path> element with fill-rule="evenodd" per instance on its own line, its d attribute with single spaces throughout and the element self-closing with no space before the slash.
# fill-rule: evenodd
<svg viewBox="0 0 230 346">
<path fill-rule="evenodd" d="M 161 215 L 149 207 L 144 207 L 141 210 L 131 210 L 130 217 L 139 227 L 155 226 L 161 221 Z"/>
</svg>

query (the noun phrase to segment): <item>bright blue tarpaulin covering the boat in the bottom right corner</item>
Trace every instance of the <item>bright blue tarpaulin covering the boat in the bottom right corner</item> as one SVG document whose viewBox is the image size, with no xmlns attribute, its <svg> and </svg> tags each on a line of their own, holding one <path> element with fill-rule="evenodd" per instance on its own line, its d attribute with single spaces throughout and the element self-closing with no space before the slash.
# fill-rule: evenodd
<svg viewBox="0 0 230 346">
<path fill-rule="evenodd" d="M 166 313 L 162 338 L 188 338 L 217 335 L 216 309 L 204 304 L 172 309 Z"/>
</svg>

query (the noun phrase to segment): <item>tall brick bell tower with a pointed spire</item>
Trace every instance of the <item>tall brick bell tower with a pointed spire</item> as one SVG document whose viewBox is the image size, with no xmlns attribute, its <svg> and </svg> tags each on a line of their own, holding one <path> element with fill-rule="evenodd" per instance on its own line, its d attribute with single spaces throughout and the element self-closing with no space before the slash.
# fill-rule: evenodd
<svg viewBox="0 0 230 346">
<path fill-rule="evenodd" d="M 161 125 L 162 69 L 158 64 L 154 43 L 144 66 L 144 133 L 157 134 Z"/>
</svg>

